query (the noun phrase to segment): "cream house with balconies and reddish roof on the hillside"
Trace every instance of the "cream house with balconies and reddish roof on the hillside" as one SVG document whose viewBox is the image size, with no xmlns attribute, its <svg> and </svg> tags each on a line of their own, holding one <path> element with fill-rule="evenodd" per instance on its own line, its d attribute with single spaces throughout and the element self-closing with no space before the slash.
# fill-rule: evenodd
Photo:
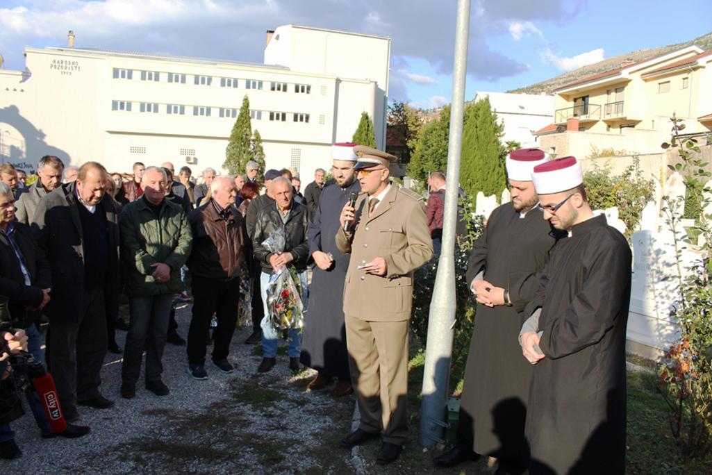
<svg viewBox="0 0 712 475">
<path fill-rule="evenodd" d="M 601 150 L 661 155 L 673 114 L 684 120 L 686 133 L 712 130 L 712 51 L 689 46 L 627 61 L 554 92 L 553 122 L 535 132 L 546 152 L 581 159 Z"/>
</svg>

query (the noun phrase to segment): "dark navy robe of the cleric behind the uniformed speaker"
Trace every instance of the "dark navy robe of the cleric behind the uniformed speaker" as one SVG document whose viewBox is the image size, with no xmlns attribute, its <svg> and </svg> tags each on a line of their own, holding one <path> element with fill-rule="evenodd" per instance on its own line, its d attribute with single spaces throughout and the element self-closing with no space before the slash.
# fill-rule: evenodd
<svg viewBox="0 0 712 475">
<path fill-rule="evenodd" d="M 346 350 L 343 296 L 350 254 L 336 249 L 339 216 L 351 192 L 361 192 L 358 181 L 342 189 L 337 184 L 324 187 L 318 209 L 307 230 L 309 255 L 331 253 L 334 264 L 327 271 L 314 267 L 309 288 L 309 309 L 304 315 L 304 335 L 300 361 L 325 375 L 350 381 Z"/>
</svg>

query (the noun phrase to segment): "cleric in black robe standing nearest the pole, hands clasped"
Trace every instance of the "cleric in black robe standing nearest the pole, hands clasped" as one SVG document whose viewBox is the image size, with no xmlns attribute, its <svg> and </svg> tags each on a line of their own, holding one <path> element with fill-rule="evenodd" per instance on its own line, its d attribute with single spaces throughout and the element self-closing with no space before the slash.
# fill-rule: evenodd
<svg viewBox="0 0 712 475">
<path fill-rule="evenodd" d="M 434 459 L 454 466 L 476 458 L 498 459 L 498 473 L 521 473 L 527 463 L 524 422 L 532 368 L 516 343 L 522 310 L 534 297 L 536 274 L 558 236 L 543 219 L 531 171 L 548 160 L 541 150 L 515 150 L 506 159 L 512 201 L 489 216 L 475 242 L 467 282 L 477 318 L 465 368 L 458 443 Z"/>
</svg>

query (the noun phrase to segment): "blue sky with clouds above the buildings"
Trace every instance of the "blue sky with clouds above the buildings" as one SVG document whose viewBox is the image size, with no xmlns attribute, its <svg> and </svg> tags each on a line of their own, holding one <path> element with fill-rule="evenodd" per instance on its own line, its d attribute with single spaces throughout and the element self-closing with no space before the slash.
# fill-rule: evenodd
<svg viewBox="0 0 712 475">
<path fill-rule="evenodd" d="M 391 98 L 449 103 L 456 0 L 0 0 L 0 54 L 25 46 L 261 62 L 265 31 L 302 24 L 392 38 Z M 674 8 L 674 9 L 673 9 Z M 711 0 L 473 0 L 466 97 L 712 31 Z"/>
</svg>

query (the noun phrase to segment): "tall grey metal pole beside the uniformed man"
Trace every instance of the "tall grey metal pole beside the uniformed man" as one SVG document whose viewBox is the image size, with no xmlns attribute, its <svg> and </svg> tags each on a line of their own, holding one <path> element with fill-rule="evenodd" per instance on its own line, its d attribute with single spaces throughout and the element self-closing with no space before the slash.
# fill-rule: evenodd
<svg viewBox="0 0 712 475">
<path fill-rule="evenodd" d="M 444 442 L 443 430 L 447 425 L 446 407 L 456 308 L 455 226 L 457 224 L 457 191 L 460 182 L 469 29 L 470 0 L 458 0 L 442 249 L 438 261 L 433 298 L 430 302 L 423 374 L 423 402 L 418 436 L 418 442 L 423 447 L 433 447 L 437 442 Z"/>
</svg>

